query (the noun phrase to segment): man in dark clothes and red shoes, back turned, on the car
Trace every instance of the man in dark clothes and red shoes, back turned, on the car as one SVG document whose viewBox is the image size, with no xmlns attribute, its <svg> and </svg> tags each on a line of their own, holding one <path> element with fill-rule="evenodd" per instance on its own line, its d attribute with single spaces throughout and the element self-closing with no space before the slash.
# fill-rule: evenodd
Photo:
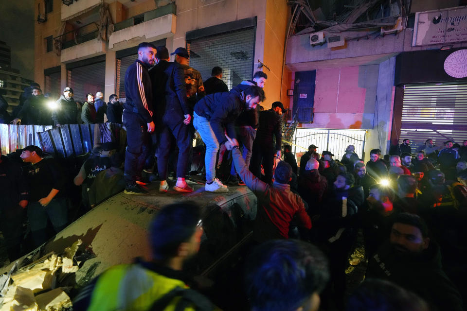
<svg viewBox="0 0 467 311">
<path fill-rule="evenodd" d="M 154 91 L 154 119 L 158 124 L 159 147 L 157 170 L 161 184 L 160 192 L 167 192 L 167 165 L 170 145 L 175 138 L 179 147 L 177 161 L 177 183 L 174 190 L 191 192 L 185 182 L 186 167 L 190 153 L 190 132 L 188 124 L 191 122 L 190 110 L 186 103 L 186 86 L 184 70 L 178 63 L 169 63 L 167 48 L 157 47 L 157 65 L 149 71 L 152 89 Z"/>
</svg>

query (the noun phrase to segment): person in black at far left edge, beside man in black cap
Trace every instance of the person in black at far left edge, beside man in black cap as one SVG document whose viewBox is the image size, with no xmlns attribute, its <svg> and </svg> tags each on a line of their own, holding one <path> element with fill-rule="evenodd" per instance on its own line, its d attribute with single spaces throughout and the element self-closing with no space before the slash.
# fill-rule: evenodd
<svg viewBox="0 0 467 311">
<path fill-rule="evenodd" d="M 0 230 L 10 262 L 21 257 L 24 208 L 28 205 L 28 184 L 19 163 L 0 157 Z"/>
</svg>

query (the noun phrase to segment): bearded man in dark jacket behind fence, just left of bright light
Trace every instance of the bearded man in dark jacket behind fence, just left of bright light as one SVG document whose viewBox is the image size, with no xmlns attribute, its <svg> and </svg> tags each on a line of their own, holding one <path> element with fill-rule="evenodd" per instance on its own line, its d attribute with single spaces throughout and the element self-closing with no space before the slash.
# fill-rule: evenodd
<svg viewBox="0 0 467 311">
<path fill-rule="evenodd" d="M 32 87 L 32 96 L 26 99 L 14 123 L 20 121 L 21 124 L 52 125 L 50 115 L 51 112 L 47 108 L 41 89 L 34 86 Z"/>
</svg>

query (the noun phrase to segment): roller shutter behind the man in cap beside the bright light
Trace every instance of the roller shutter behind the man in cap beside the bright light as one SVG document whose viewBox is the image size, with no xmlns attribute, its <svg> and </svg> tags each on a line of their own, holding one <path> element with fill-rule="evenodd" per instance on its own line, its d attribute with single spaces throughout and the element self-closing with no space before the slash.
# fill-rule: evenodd
<svg viewBox="0 0 467 311">
<path fill-rule="evenodd" d="M 68 69 L 67 75 L 67 85 L 73 88 L 75 101 L 85 102 L 87 93 L 94 95 L 99 91 L 104 93 L 106 85 L 105 61 Z M 104 97 L 108 97 L 108 95 L 110 94 L 104 94 Z"/>
</svg>

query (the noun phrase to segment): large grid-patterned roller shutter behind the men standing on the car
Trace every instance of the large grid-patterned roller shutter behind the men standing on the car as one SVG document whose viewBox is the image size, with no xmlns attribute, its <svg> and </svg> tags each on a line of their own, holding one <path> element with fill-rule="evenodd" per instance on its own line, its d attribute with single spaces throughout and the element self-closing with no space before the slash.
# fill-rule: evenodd
<svg viewBox="0 0 467 311">
<path fill-rule="evenodd" d="M 187 42 L 187 50 L 190 66 L 201 72 L 203 81 L 211 77 L 213 67 L 219 66 L 222 80 L 231 89 L 252 77 L 254 28 L 194 39 Z"/>
</svg>

